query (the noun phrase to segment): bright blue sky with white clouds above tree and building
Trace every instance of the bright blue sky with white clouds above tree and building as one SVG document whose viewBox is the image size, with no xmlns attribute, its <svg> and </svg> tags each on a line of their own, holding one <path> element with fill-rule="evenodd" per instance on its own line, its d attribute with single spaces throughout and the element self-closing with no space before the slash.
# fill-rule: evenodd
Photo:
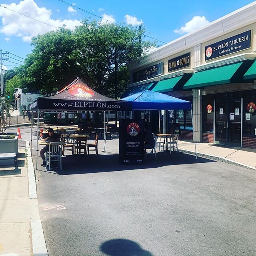
<svg viewBox="0 0 256 256">
<path fill-rule="evenodd" d="M 106 20 L 116 23 L 124 22 L 134 26 L 141 22 L 146 27 L 148 35 L 162 42 L 170 42 L 192 30 L 212 22 L 234 10 L 237 10 L 252 0 L 66 0 L 87 12 L 68 6 L 60 0 L 4 0 L 0 1 L 0 49 L 11 52 L 25 58 L 32 50 L 31 37 L 38 33 L 43 34 L 54 27 L 66 24 L 68 28 L 74 28 L 81 20 L 92 18 L 101 21 Z M 11 10 L 9 10 L 11 9 Z M 16 11 L 16 12 L 14 12 Z M 41 20 L 51 26 L 31 20 L 20 12 L 32 18 Z M 158 44 L 163 44 L 158 42 Z M 12 58 L 22 60 L 14 55 Z M 10 58 L 10 61 L 21 63 Z M 18 64 L 4 62 L 7 69 Z"/>
</svg>

